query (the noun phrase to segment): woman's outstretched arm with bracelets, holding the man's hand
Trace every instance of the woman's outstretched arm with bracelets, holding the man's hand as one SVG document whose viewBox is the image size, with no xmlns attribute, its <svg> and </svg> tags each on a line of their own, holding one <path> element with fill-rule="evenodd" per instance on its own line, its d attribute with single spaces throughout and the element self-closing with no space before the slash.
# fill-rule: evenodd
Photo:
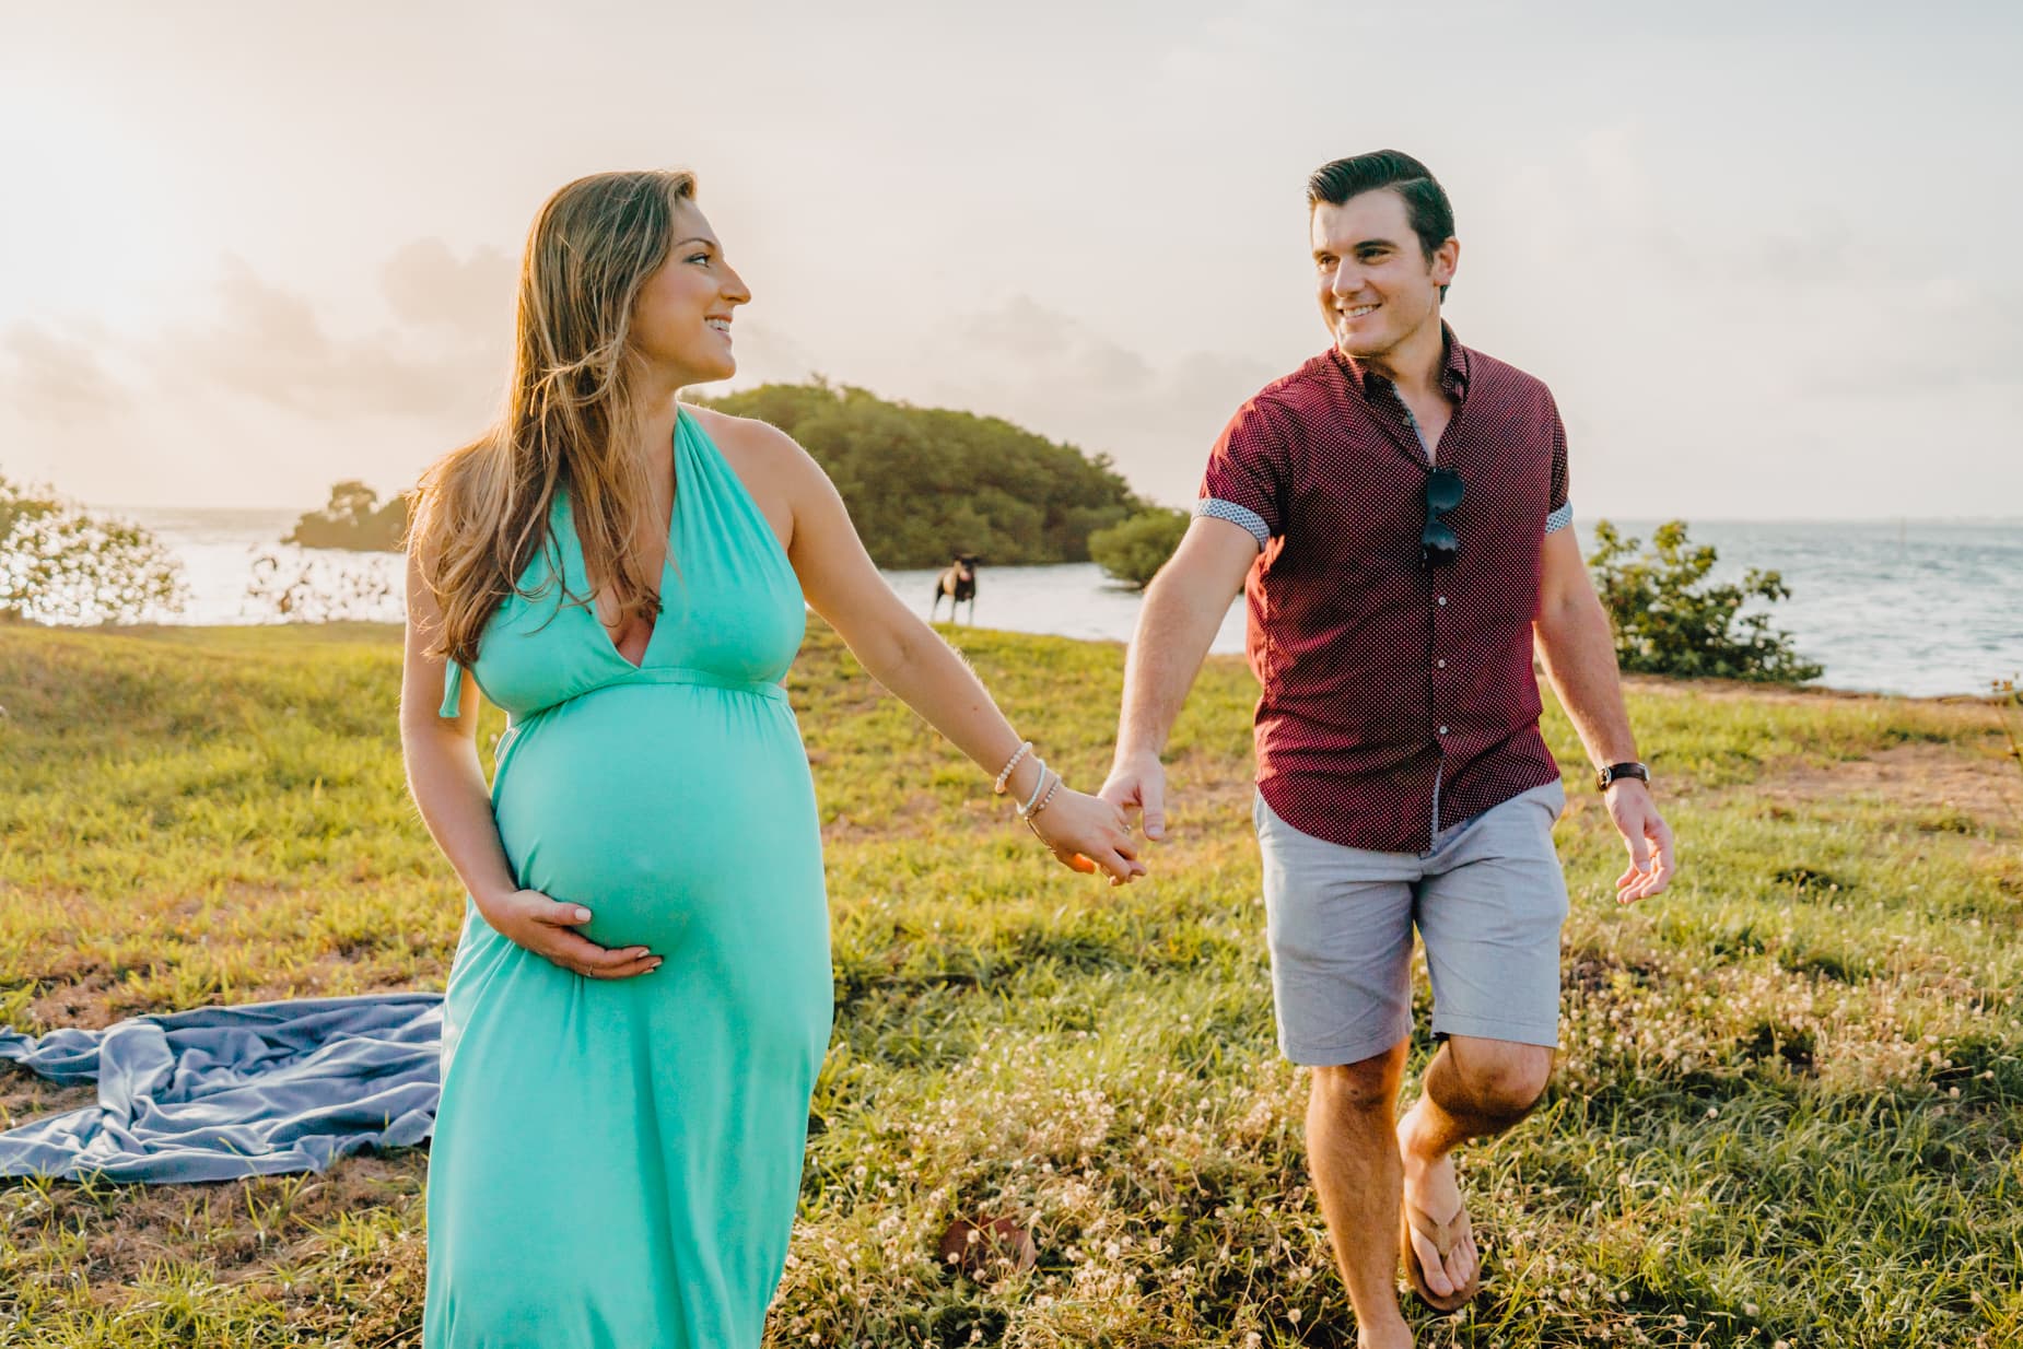
<svg viewBox="0 0 2023 1349">
<path fill-rule="evenodd" d="M 753 451 L 755 463 L 777 469 L 775 481 L 787 483 L 793 506 L 787 558 L 809 607 L 838 631 L 874 680 L 969 754 L 987 777 L 995 777 L 1018 752 L 1018 732 L 963 657 L 892 595 L 892 587 L 864 552 L 829 475 L 775 427 L 738 421 L 732 435 Z M 1052 771 L 1048 777 L 1052 779 Z M 1005 791 L 1028 801 L 1036 789 L 1040 769 L 1036 756 L 1028 754 Z M 1046 809 L 1032 817 L 1032 825 L 1054 856 L 1076 872 L 1103 868 L 1113 884 L 1145 874 L 1123 811 L 1107 801 L 1062 785 Z"/>
</svg>

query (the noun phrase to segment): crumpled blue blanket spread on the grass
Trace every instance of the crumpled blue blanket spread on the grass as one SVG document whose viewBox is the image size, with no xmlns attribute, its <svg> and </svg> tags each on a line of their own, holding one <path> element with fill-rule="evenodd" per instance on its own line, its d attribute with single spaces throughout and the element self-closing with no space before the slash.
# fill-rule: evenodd
<svg viewBox="0 0 2023 1349">
<path fill-rule="evenodd" d="M 0 1133 L 0 1175 L 227 1181 L 322 1171 L 435 1127 L 441 993 L 305 997 L 134 1017 L 40 1038 L 0 1029 L 0 1060 L 99 1104 Z"/>
</svg>

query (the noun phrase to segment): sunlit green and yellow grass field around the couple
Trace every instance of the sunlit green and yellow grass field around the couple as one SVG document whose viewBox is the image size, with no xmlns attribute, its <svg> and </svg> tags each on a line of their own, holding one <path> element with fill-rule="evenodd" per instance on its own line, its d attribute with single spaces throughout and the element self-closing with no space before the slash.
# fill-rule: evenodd
<svg viewBox="0 0 2023 1349">
<path fill-rule="evenodd" d="M 1119 647 L 955 641 L 1094 789 Z M 397 686 L 380 627 L 0 627 L 0 1017 L 441 987 L 461 896 Z M 1272 1048 L 1242 665 L 1204 671 L 1173 841 L 1121 892 L 1046 860 L 819 625 L 791 690 L 838 1029 L 771 1343 L 1351 1345 Z M 1633 714 L 1683 878 L 1612 904 L 1554 708 L 1566 1050 L 1540 1114 L 1463 1159 L 1493 1282 L 1420 1343 L 2023 1345 L 2023 775 L 1995 710 L 1639 684 Z M 0 1122 L 87 1100 L 0 1070 Z M 423 1171 L 8 1181 L 0 1345 L 413 1345 Z M 951 1268 L 959 1218 L 1016 1220 L 1036 1264 Z"/>
</svg>

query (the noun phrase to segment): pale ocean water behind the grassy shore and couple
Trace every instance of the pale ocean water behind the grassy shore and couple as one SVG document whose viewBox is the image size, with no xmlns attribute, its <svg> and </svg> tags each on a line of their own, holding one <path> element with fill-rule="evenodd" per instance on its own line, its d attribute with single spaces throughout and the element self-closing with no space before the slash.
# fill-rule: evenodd
<svg viewBox="0 0 2023 1349">
<path fill-rule="evenodd" d="M 249 595 L 263 554 L 281 574 L 305 568 L 314 589 L 350 593 L 346 617 L 401 619 L 403 558 L 283 546 L 293 510 L 103 510 L 154 530 L 182 562 L 188 605 L 168 621 L 279 621 L 271 601 Z M 1651 522 L 1618 528 L 1651 534 Z M 1752 566 L 1784 576 L 1792 597 L 1770 613 L 1800 653 L 1827 667 L 1819 684 L 1930 696 L 1981 694 L 1993 680 L 2023 676 L 2023 520 L 1716 520 L 1693 524 L 1691 540 L 1716 546 L 1718 576 Z M 888 570 L 884 578 L 927 615 L 935 572 Z M 1137 593 L 1086 562 L 979 570 L 975 621 L 983 627 L 1127 641 L 1137 611 Z M 1244 649 L 1242 601 L 1214 649 Z"/>
</svg>

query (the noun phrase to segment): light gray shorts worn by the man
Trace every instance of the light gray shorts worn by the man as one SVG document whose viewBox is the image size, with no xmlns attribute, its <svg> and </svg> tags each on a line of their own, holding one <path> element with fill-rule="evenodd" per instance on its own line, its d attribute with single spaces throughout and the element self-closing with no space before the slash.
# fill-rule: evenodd
<svg viewBox="0 0 2023 1349">
<path fill-rule="evenodd" d="M 1412 926 L 1426 942 L 1436 1036 L 1560 1044 L 1566 876 L 1560 783 L 1448 825 L 1424 853 L 1301 833 L 1256 797 L 1279 1048 L 1357 1064 L 1412 1031 Z"/>
</svg>

